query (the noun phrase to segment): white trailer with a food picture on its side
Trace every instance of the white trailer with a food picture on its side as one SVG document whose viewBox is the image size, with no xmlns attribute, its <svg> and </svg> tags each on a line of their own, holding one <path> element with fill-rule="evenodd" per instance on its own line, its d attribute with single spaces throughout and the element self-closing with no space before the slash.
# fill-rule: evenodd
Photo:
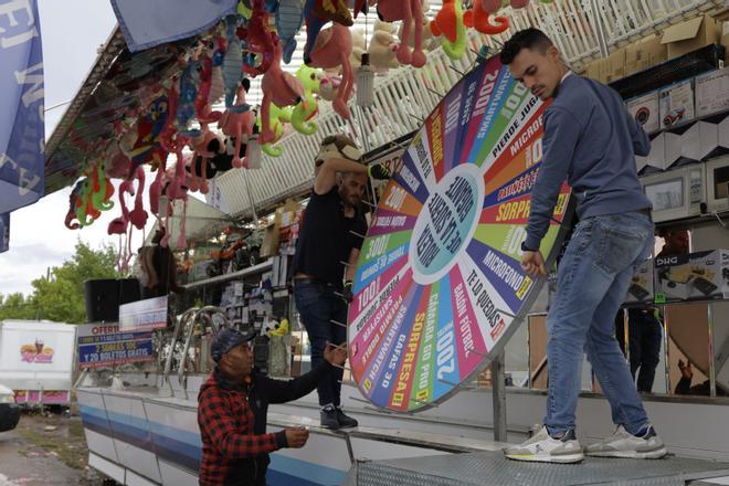
<svg viewBox="0 0 729 486">
<path fill-rule="evenodd" d="M 76 326 L 50 321 L 0 323 L 0 383 L 19 404 L 71 401 Z"/>
</svg>

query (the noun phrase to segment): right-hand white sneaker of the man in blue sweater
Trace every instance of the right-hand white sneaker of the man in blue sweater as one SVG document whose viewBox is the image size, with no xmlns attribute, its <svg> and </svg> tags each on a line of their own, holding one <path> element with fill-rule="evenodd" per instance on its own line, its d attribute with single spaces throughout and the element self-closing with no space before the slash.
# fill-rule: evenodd
<svg viewBox="0 0 729 486">
<path fill-rule="evenodd" d="M 637 436 L 619 425 L 613 435 L 596 444 L 590 444 L 584 453 L 598 457 L 625 457 L 634 459 L 657 459 L 665 456 L 666 445 L 653 425 L 648 425 L 645 434 Z"/>
</svg>

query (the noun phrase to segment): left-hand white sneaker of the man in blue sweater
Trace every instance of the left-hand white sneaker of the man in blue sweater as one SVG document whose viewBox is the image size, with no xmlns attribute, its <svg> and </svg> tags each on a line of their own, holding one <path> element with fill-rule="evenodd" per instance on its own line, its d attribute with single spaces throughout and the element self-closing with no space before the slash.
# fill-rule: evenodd
<svg viewBox="0 0 729 486">
<path fill-rule="evenodd" d="M 569 431 L 562 439 L 552 439 L 542 426 L 527 442 L 506 447 L 504 455 L 515 461 L 533 461 L 539 463 L 579 463 L 584 458 L 582 447 L 574 436 L 574 431 Z"/>
</svg>

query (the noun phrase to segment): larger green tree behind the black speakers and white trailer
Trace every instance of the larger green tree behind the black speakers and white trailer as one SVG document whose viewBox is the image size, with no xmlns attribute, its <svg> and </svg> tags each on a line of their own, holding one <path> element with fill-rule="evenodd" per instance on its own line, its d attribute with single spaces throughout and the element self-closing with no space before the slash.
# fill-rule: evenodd
<svg viewBox="0 0 729 486">
<path fill-rule="evenodd" d="M 78 241 L 75 250 L 71 260 L 52 268 L 51 278 L 42 276 L 31 283 L 34 292 L 29 300 L 32 299 L 39 318 L 68 324 L 85 323 L 84 282 L 120 276 L 112 246 L 93 250 Z"/>
</svg>

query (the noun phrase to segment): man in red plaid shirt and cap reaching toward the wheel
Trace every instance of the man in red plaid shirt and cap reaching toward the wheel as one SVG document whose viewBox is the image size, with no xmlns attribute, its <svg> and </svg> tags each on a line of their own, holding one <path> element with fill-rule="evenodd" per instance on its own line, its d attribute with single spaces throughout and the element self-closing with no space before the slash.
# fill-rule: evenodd
<svg viewBox="0 0 729 486">
<path fill-rule="evenodd" d="M 265 486 L 268 453 L 303 447 L 309 435 L 303 427 L 266 433 L 268 403 L 285 403 L 310 393 L 347 358 L 342 348 L 328 346 L 325 362 L 316 369 L 290 381 L 273 380 L 253 371 L 249 342 L 253 337 L 225 328 L 213 339 L 215 370 L 198 395 L 201 485 Z"/>
</svg>

